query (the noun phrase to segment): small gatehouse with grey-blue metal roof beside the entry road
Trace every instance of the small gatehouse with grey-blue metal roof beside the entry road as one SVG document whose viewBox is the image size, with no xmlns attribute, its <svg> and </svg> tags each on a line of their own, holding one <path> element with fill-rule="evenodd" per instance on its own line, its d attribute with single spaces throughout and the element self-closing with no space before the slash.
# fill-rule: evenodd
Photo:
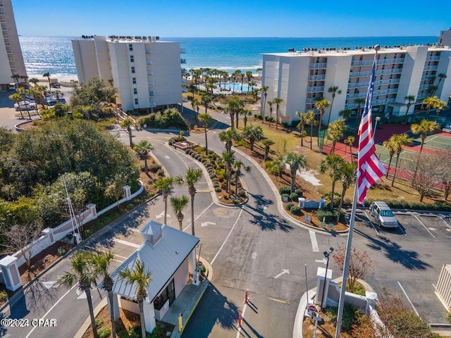
<svg viewBox="0 0 451 338">
<path fill-rule="evenodd" d="M 156 320 L 161 320 L 171 304 L 190 282 L 190 275 L 196 267 L 195 248 L 199 238 L 168 225 L 151 220 L 141 234 L 143 243 L 132 255 L 112 273 L 114 280 L 114 317 L 119 318 L 119 307 L 140 313 L 136 301 L 137 283 L 130 284 L 118 276 L 120 270 L 132 270 L 137 260 L 144 263 L 151 273 L 144 301 L 144 322 L 147 332 L 152 332 Z"/>
</svg>

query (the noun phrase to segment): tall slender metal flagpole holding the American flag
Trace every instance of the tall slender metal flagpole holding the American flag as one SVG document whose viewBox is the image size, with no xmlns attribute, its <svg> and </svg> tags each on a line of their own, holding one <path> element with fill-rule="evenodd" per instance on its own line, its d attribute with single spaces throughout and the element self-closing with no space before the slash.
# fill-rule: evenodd
<svg viewBox="0 0 451 338">
<path fill-rule="evenodd" d="M 374 49 L 376 51 L 376 54 L 374 55 L 373 75 L 375 72 L 374 67 L 376 67 L 376 58 L 377 58 L 379 49 L 381 49 L 381 46 L 376 44 L 376 46 L 374 46 Z M 373 77 L 373 75 L 371 75 L 371 77 Z M 370 87 L 371 87 L 372 80 L 374 80 L 374 79 L 370 80 Z M 372 93 L 371 93 L 371 96 L 372 96 Z M 367 94 L 366 99 L 368 100 L 368 98 L 369 98 L 369 95 Z M 369 105 L 369 110 L 371 111 L 371 104 L 369 104 L 369 102 L 365 102 L 365 106 L 367 104 Z M 362 115 L 362 119 L 363 119 L 363 115 Z M 362 120 L 360 121 L 360 123 L 362 124 Z M 360 135 L 360 137 L 362 137 L 362 135 Z M 361 149 L 360 149 L 360 144 L 359 144 L 359 153 L 360 153 L 360 150 Z M 360 159 L 360 156 L 361 156 L 361 154 L 359 154 L 359 159 Z M 359 168 L 357 168 L 357 179 L 356 179 L 355 187 L 354 187 L 354 199 L 352 201 L 350 228 L 349 228 L 349 231 L 347 234 L 346 256 L 345 256 L 345 263 L 343 264 L 343 275 L 342 275 L 341 289 L 340 289 L 340 301 L 338 302 L 337 328 L 335 330 L 335 338 L 340 338 L 343 307 L 345 306 L 346 281 L 347 281 L 347 275 L 349 273 L 349 267 L 350 267 L 349 265 L 350 265 L 350 256 L 351 256 L 351 247 L 352 247 L 352 234 L 354 232 L 355 212 L 357 210 L 357 202 L 358 202 L 358 196 L 359 196 L 358 182 L 359 182 Z"/>
</svg>

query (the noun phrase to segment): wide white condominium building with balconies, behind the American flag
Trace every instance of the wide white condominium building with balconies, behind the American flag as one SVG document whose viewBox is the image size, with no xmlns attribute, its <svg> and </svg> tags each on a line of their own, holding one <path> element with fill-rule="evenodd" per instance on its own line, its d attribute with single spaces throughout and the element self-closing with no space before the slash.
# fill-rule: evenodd
<svg viewBox="0 0 451 338">
<path fill-rule="evenodd" d="M 296 111 L 314 110 L 315 101 L 332 101 L 330 87 L 338 87 L 333 100 L 330 122 L 340 117 L 340 111 L 354 113 L 363 107 L 358 99 L 365 99 L 375 51 L 371 47 L 342 49 L 305 49 L 288 53 L 264 54 L 262 86 L 269 87 L 268 101 L 278 97 L 282 122 L 299 120 Z M 426 96 L 436 95 L 447 102 L 451 92 L 451 48 L 449 46 L 383 46 L 378 51 L 376 83 L 373 93 L 373 113 L 385 117 L 404 116 L 407 96 L 414 96 L 409 114 L 421 108 Z M 435 87 L 436 86 L 436 87 Z M 261 111 L 264 106 L 261 99 Z M 323 122 L 329 120 L 326 109 Z M 273 106 L 273 117 L 275 117 Z"/>
</svg>

